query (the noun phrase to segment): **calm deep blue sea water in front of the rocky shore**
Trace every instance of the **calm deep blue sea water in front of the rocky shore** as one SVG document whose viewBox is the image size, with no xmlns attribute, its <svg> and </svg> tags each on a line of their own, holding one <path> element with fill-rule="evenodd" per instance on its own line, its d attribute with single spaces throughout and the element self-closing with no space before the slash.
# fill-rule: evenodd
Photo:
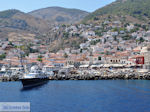
<svg viewBox="0 0 150 112">
<path fill-rule="evenodd" d="M 29 90 L 0 82 L 0 102 L 31 102 L 31 112 L 150 112 L 150 81 L 49 81 Z"/>
</svg>

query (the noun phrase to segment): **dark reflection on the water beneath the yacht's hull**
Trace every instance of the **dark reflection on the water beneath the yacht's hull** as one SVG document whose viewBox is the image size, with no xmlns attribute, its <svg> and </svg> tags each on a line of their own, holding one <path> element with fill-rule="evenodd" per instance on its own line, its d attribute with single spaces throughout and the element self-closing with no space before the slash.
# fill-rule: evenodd
<svg viewBox="0 0 150 112">
<path fill-rule="evenodd" d="M 31 86 L 31 87 L 22 87 L 21 91 L 30 91 L 30 90 L 39 90 L 40 88 L 42 88 L 43 86 L 46 86 L 46 84 L 48 84 L 48 80 L 39 84 L 39 85 L 35 85 L 35 86 Z"/>
</svg>

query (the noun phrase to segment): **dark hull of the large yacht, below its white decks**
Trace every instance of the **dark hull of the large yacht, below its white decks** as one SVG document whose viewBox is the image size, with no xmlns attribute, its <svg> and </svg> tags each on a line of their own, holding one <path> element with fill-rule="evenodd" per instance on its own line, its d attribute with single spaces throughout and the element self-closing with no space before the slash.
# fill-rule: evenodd
<svg viewBox="0 0 150 112">
<path fill-rule="evenodd" d="M 20 79 L 24 88 L 39 86 L 48 81 L 48 78 Z"/>
</svg>

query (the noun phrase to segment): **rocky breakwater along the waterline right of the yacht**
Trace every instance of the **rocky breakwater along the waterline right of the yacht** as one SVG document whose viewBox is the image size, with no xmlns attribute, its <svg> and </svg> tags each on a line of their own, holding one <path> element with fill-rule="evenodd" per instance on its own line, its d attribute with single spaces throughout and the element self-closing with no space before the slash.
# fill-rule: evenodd
<svg viewBox="0 0 150 112">
<path fill-rule="evenodd" d="M 150 73 L 135 71 L 82 71 L 80 74 L 54 75 L 50 80 L 150 80 Z"/>
</svg>

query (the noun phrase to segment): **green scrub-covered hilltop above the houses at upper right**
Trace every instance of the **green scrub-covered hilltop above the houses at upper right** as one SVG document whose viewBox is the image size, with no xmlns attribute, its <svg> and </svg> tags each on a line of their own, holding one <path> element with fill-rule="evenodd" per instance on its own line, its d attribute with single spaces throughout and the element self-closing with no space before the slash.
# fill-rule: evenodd
<svg viewBox="0 0 150 112">
<path fill-rule="evenodd" d="M 150 0 L 117 0 L 88 15 L 84 22 L 103 15 L 128 15 L 141 21 L 149 22 Z"/>
</svg>

